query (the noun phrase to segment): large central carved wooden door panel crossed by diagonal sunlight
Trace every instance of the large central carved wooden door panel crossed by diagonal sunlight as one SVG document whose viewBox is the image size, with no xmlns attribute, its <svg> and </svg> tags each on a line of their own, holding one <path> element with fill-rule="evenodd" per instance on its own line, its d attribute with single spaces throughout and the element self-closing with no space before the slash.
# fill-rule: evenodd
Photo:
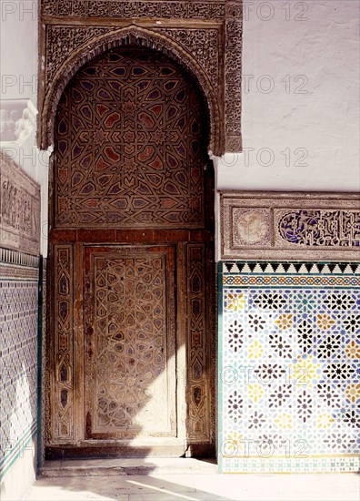
<svg viewBox="0 0 360 501">
<path fill-rule="evenodd" d="M 87 438 L 176 435 L 174 250 L 85 251 Z"/>
</svg>

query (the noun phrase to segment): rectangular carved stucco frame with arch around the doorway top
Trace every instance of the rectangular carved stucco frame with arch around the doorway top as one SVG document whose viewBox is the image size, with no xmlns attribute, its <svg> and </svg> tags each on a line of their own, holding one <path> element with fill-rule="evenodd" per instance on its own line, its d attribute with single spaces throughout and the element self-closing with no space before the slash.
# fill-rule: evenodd
<svg viewBox="0 0 360 501">
<path fill-rule="evenodd" d="M 79 67 L 114 46 L 137 44 L 173 57 L 197 79 L 209 107 L 208 148 L 241 150 L 241 1 L 43 0 L 41 12 L 42 148 L 53 144 L 57 103 Z"/>
</svg>

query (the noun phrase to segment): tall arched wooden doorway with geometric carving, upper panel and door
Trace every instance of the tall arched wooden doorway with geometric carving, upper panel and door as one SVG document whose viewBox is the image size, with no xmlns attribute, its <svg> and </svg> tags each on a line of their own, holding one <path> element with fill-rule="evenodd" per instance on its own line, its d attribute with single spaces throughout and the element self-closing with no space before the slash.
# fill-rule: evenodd
<svg viewBox="0 0 360 501">
<path fill-rule="evenodd" d="M 60 99 L 46 456 L 211 455 L 214 171 L 195 78 L 139 46 Z"/>
</svg>

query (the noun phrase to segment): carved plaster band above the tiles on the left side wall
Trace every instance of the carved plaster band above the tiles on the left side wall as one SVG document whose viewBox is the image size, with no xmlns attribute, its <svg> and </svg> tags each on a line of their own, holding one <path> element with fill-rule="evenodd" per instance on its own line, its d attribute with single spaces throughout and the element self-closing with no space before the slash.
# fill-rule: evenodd
<svg viewBox="0 0 360 501">
<path fill-rule="evenodd" d="M 1 149 L 0 183 L 1 245 L 38 255 L 40 187 Z"/>
</svg>

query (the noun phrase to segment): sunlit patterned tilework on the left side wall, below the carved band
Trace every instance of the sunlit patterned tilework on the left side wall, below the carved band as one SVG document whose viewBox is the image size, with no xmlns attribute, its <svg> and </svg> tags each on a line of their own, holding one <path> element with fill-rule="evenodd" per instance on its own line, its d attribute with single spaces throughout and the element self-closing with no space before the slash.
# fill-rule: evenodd
<svg viewBox="0 0 360 501">
<path fill-rule="evenodd" d="M 6 254 L 6 255 L 5 255 Z M 0 250 L 0 474 L 3 477 L 37 432 L 38 261 Z M 10 262 L 9 262 L 10 261 Z M 35 450 L 30 451 L 35 456 Z"/>
</svg>

